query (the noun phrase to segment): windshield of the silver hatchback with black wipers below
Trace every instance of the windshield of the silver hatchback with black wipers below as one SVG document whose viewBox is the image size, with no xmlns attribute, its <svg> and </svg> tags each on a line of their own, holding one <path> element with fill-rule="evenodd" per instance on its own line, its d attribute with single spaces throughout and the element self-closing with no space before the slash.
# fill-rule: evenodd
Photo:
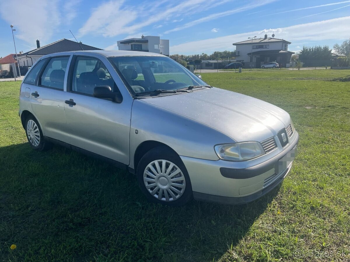
<svg viewBox="0 0 350 262">
<path fill-rule="evenodd" d="M 110 57 L 135 93 L 207 85 L 179 63 L 163 56 Z"/>
</svg>

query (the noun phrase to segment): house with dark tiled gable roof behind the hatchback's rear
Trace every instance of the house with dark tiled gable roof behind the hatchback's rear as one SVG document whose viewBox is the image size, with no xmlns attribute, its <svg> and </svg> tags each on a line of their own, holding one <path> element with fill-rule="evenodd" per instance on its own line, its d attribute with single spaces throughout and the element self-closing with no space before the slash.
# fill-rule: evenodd
<svg viewBox="0 0 350 262">
<path fill-rule="evenodd" d="M 48 45 L 40 47 L 39 40 L 36 40 L 37 48 L 29 52 L 23 53 L 18 56 L 19 65 L 21 68 L 21 74 L 23 66 L 29 67 L 32 66 L 40 57 L 45 56 L 46 54 L 58 53 L 58 52 L 69 52 L 69 51 L 87 51 L 87 50 L 102 50 L 90 45 L 85 45 L 82 42 L 75 42 L 68 39 L 60 39 L 56 42 L 53 42 Z M 27 69 L 28 71 L 28 69 Z M 24 75 L 24 74 L 23 74 Z"/>
</svg>

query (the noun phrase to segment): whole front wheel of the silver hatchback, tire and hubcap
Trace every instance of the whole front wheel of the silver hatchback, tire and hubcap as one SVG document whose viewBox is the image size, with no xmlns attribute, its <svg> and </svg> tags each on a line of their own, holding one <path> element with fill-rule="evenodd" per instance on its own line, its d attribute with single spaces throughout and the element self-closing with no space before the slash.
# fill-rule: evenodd
<svg viewBox="0 0 350 262">
<path fill-rule="evenodd" d="M 147 199 L 180 206 L 193 196 L 191 181 L 179 155 L 165 146 L 148 151 L 137 167 L 137 179 Z"/>
</svg>

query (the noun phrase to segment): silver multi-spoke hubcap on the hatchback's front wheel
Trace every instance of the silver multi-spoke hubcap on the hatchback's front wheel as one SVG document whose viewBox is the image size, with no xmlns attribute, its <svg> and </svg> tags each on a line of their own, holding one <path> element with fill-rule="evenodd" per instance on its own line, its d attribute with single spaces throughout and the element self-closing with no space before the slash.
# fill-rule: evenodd
<svg viewBox="0 0 350 262">
<path fill-rule="evenodd" d="M 155 160 L 147 165 L 144 183 L 152 196 L 166 202 L 180 198 L 186 188 L 181 169 L 164 159 Z"/>
</svg>

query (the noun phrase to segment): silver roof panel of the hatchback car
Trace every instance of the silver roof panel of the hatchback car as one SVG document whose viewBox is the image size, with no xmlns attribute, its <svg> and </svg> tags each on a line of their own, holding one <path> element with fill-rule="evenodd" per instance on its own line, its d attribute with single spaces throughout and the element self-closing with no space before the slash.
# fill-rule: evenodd
<svg viewBox="0 0 350 262">
<path fill-rule="evenodd" d="M 52 53 L 45 57 L 52 57 L 52 56 L 62 56 L 62 55 L 68 55 L 68 54 L 100 54 L 105 57 L 115 57 L 115 56 L 164 56 L 163 54 L 158 53 L 150 53 L 150 52 L 141 52 L 141 51 L 122 51 L 122 50 L 89 50 L 89 51 L 70 51 L 70 52 L 60 52 L 60 53 Z"/>
</svg>

